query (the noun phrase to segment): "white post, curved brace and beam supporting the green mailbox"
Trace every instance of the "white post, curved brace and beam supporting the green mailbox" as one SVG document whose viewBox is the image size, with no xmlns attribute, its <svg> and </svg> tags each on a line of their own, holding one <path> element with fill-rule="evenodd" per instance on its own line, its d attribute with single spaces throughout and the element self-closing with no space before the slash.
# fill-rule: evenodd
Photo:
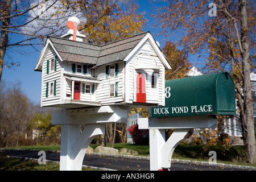
<svg viewBox="0 0 256 182">
<path fill-rule="evenodd" d="M 210 116 L 139 118 L 139 129 L 149 129 L 150 170 L 171 167 L 171 158 L 176 146 L 187 139 L 195 128 L 216 127 L 217 119 Z M 166 129 L 175 129 L 166 141 Z"/>
</svg>

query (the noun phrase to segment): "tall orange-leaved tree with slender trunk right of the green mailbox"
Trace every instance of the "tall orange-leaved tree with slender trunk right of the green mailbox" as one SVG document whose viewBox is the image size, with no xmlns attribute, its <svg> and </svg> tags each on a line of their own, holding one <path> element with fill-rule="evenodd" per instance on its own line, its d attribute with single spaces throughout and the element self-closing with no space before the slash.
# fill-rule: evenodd
<svg viewBox="0 0 256 182">
<path fill-rule="evenodd" d="M 188 56 L 206 72 L 228 71 L 235 82 L 245 156 L 255 163 L 255 136 L 250 72 L 255 71 L 255 2 L 168 1 L 159 7 L 161 34 L 175 35 Z"/>
</svg>

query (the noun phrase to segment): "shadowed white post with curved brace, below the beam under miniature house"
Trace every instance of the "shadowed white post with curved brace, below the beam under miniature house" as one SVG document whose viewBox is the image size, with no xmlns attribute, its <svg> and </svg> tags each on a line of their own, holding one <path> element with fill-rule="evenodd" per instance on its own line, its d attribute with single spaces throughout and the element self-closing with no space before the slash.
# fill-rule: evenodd
<svg viewBox="0 0 256 182">
<path fill-rule="evenodd" d="M 105 123 L 85 125 L 61 125 L 60 171 L 81 171 L 85 152 L 92 140 L 105 134 Z"/>
</svg>

